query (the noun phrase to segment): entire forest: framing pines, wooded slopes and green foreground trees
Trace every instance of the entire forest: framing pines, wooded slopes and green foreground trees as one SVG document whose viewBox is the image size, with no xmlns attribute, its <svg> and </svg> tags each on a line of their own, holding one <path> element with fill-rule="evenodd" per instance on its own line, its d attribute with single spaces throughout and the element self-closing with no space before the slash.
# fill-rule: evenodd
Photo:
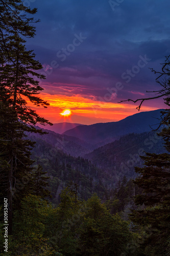
<svg viewBox="0 0 170 256">
<path fill-rule="evenodd" d="M 169 110 L 161 111 L 160 130 L 95 150 L 69 136 L 45 139 L 36 125 L 52 123 L 27 104 L 49 105 L 38 96 L 41 63 L 25 45 L 36 11 L 0 0 L 1 255 L 168 256 Z M 169 65 L 167 57 L 160 89 L 167 106 Z"/>
</svg>

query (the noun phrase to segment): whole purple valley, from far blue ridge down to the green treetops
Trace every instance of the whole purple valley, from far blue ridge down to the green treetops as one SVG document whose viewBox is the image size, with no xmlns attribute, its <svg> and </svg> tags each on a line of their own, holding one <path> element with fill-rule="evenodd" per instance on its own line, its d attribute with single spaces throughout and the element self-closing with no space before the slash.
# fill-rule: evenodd
<svg viewBox="0 0 170 256">
<path fill-rule="evenodd" d="M 81 125 L 64 134 L 46 129 L 43 130 L 48 133 L 45 135 L 29 134 L 28 138 L 36 141 L 32 158 L 50 176 L 52 201 L 59 201 L 61 190 L 70 181 L 79 184 L 81 198 L 87 199 L 97 193 L 106 200 L 111 189 L 122 182 L 124 177 L 127 180 L 134 179 L 135 166 L 143 165 L 140 156 L 144 152 L 166 152 L 163 140 L 157 131 L 151 129 L 151 125 L 157 122 L 156 118 L 160 118 L 160 110 L 135 114 L 119 122 Z M 90 131 L 91 134 L 97 131 L 95 144 L 94 140 L 87 139 Z M 112 136 L 110 143 L 106 142 L 107 131 Z M 76 137 L 71 136 L 75 134 Z M 104 145 L 97 147 L 100 144 Z"/>
</svg>

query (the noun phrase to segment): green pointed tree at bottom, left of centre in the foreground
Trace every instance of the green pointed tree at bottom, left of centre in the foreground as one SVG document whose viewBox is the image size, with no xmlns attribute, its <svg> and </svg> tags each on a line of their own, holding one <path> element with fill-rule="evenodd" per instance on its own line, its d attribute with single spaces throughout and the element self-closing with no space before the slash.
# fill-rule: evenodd
<svg viewBox="0 0 170 256">
<path fill-rule="evenodd" d="M 76 253 L 76 230 L 80 226 L 81 206 L 76 190 L 65 188 L 61 192 L 61 203 L 51 212 L 45 234 L 50 237 L 50 242 L 61 249 L 64 255 Z"/>
</svg>

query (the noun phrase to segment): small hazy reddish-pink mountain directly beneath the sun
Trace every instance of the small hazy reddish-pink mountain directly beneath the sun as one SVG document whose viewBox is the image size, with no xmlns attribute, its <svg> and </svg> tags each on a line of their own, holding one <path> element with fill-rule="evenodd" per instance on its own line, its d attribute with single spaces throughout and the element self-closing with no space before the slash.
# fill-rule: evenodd
<svg viewBox="0 0 170 256">
<path fill-rule="evenodd" d="M 46 126 L 39 124 L 38 126 L 41 127 L 42 129 L 47 129 L 55 133 L 62 134 L 67 130 L 74 129 L 78 125 L 83 125 L 83 124 L 63 122 L 63 123 L 54 123 L 52 126 L 49 124 L 47 124 Z"/>
</svg>

